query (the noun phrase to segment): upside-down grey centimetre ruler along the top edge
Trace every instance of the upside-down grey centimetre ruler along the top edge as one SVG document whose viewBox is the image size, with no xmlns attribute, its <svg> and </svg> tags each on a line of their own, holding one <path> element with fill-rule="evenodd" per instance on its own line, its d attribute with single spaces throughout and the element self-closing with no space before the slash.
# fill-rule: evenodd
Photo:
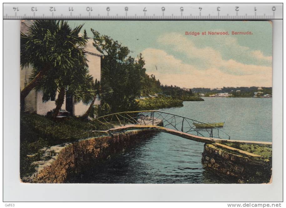
<svg viewBox="0 0 286 208">
<path fill-rule="evenodd" d="M 3 19 L 271 20 L 282 3 L 4 3 Z"/>
</svg>

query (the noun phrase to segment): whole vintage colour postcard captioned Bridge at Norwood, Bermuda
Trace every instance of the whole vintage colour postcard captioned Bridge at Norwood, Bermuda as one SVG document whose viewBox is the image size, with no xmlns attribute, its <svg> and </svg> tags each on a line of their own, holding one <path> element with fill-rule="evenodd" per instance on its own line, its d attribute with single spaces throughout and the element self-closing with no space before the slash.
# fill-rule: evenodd
<svg viewBox="0 0 286 208">
<path fill-rule="evenodd" d="M 270 21 L 22 20 L 26 183 L 272 181 Z"/>
</svg>

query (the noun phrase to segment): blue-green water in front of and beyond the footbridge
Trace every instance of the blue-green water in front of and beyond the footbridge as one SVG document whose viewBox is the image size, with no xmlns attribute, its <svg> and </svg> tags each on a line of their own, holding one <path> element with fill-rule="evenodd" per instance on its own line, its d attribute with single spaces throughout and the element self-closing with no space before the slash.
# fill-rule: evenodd
<svg viewBox="0 0 286 208">
<path fill-rule="evenodd" d="M 271 141 L 271 98 L 204 98 L 161 111 L 202 122 L 225 122 L 231 139 Z M 203 143 L 158 133 L 110 161 L 83 183 L 223 183 L 203 169 Z"/>
</svg>

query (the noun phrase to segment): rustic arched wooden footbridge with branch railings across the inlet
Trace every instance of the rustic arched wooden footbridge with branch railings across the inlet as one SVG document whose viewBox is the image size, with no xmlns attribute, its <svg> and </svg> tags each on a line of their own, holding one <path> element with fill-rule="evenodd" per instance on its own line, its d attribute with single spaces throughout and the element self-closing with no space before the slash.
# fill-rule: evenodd
<svg viewBox="0 0 286 208">
<path fill-rule="evenodd" d="M 93 132 L 102 133 L 116 133 L 140 129 L 161 131 L 197 142 L 214 143 L 217 146 L 235 150 L 253 157 L 259 155 L 229 147 L 221 144 L 221 142 L 239 142 L 266 146 L 272 145 L 271 142 L 230 140 L 230 136 L 221 128 L 215 126 L 210 127 L 209 124 L 204 122 L 156 110 L 113 113 L 95 118 L 90 121 L 89 124 L 94 127 L 95 130 L 93 130 Z M 208 127 L 197 128 L 195 124 L 207 124 L 201 126 Z"/>
</svg>

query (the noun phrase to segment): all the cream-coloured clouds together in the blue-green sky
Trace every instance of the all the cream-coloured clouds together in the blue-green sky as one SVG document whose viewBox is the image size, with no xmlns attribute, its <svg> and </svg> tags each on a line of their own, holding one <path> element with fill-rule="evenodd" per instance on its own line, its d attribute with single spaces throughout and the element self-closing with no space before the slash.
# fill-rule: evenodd
<svg viewBox="0 0 286 208">
<path fill-rule="evenodd" d="M 222 47 L 231 46 L 257 60 L 270 63 L 272 61 L 272 56 L 264 56 L 261 51 L 251 51 L 248 47 L 240 46 L 233 37 L 224 37 L 224 40 L 218 37 L 218 39 L 220 44 L 224 44 Z M 183 53 L 192 60 L 195 59 L 196 63 L 187 64 L 164 50 L 147 48 L 142 52 L 146 60 L 147 73 L 154 74 L 164 85 L 190 88 L 272 86 L 271 66 L 244 64 L 233 59 L 223 60 L 218 50 L 211 47 L 197 47 L 193 40 L 178 33 L 160 36 L 158 43 L 171 47 L 173 51 Z"/>
</svg>

